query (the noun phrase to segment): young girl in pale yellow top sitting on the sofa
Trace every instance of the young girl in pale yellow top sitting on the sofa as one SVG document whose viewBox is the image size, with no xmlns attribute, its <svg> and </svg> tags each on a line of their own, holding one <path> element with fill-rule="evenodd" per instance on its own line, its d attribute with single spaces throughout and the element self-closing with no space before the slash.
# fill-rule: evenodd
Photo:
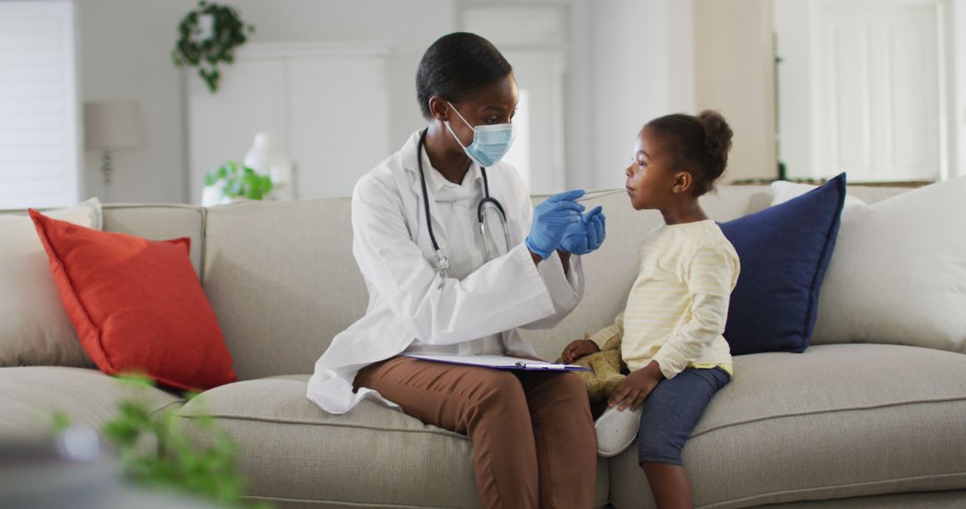
<svg viewBox="0 0 966 509">
<path fill-rule="evenodd" d="M 613 456 L 638 438 L 639 464 L 658 507 L 693 507 L 681 450 L 731 378 L 725 331 L 738 281 L 738 255 L 698 197 L 725 172 L 731 129 L 716 112 L 668 115 L 638 135 L 627 174 L 637 210 L 657 209 L 665 224 L 640 246 L 639 275 L 611 327 L 570 343 L 573 362 L 611 341 L 630 374 L 597 420 L 598 453 Z"/>
</svg>

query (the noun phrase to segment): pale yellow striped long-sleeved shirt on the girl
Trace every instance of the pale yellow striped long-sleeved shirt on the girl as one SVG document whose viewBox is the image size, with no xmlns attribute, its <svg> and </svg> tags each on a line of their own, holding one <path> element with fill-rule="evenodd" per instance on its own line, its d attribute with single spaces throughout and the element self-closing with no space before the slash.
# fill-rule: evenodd
<svg viewBox="0 0 966 509">
<path fill-rule="evenodd" d="M 620 348 L 631 371 L 658 362 L 665 378 L 686 367 L 731 374 L 725 336 L 738 254 L 714 221 L 662 225 L 640 244 L 639 274 L 613 325 L 590 337 Z"/>
</svg>

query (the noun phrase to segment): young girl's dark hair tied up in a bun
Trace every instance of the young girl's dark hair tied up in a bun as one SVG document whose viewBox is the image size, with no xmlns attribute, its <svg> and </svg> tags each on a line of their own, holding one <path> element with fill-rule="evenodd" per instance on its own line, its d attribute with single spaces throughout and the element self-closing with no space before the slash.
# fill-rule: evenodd
<svg viewBox="0 0 966 509">
<path fill-rule="evenodd" d="M 715 181 L 725 174 L 733 132 L 722 114 L 711 110 L 696 117 L 676 113 L 649 121 L 644 129 L 668 143 L 674 166 L 694 178 L 696 196 L 714 189 Z"/>
</svg>

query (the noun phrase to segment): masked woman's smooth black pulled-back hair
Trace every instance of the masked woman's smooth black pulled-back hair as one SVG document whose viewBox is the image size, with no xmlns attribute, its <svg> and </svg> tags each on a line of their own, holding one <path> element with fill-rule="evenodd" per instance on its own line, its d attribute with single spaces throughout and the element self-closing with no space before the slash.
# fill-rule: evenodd
<svg viewBox="0 0 966 509">
<path fill-rule="evenodd" d="M 513 67 L 489 40 L 467 32 L 442 36 L 423 53 L 416 68 L 416 99 L 423 117 L 433 117 L 433 95 L 458 102 L 472 92 L 493 85 Z"/>
</svg>

